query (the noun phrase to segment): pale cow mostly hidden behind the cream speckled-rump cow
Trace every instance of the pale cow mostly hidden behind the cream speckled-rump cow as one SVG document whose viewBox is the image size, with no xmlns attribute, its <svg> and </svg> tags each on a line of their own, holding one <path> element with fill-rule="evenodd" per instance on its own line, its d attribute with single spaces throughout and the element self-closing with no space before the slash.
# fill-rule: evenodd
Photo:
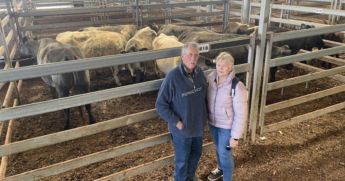
<svg viewBox="0 0 345 181">
<path fill-rule="evenodd" d="M 152 30 L 158 32 L 159 28 L 156 23 L 148 24 Z M 122 36 L 125 37 L 126 41 L 130 40 L 137 30 L 141 30 L 146 27 L 136 26 L 136 25 L 118 25 L 118 26 L 109 26 L 109 27 L 88 27 L 88 28 L 80 28 L 78 31 L 111 31 L 120 33 Z"/>
</svg>

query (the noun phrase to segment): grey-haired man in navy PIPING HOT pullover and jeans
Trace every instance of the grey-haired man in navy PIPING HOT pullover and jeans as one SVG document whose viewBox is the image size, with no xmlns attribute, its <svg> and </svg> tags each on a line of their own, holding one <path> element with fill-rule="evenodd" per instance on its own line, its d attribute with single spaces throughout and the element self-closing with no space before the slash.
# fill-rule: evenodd
<svg viewBox="0 0 345 181">
<path fill-rule="evenodd" d="M 208 114 L 206 78 L 197 65 L 198 58 L 198 44 L 186 43 L 181 51 L 181 64 L 165 77 L 156 102 L 157 113 L 169 123 L 174 143 L 174 181 L 200 181 L 195 171 Z"/>
</svg>

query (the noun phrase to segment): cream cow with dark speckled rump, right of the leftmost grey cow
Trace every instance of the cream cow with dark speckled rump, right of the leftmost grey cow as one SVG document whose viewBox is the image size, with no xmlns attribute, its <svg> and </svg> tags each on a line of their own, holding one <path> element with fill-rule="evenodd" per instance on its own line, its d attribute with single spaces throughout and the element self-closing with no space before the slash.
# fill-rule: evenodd
<svg viewBox="0 0 345 181">
<path fill-rule="evenodd" d="M 109 31 L 67 31 L 60 33 L 56 40 L 79 47 L 84 52 L 85 58 L 102 57 L 120 54 L 126 47 L 125 38 L 116 32 Z M 110 67 L 117 86 L 121 86 L 118 66 Z"/>
</svg>

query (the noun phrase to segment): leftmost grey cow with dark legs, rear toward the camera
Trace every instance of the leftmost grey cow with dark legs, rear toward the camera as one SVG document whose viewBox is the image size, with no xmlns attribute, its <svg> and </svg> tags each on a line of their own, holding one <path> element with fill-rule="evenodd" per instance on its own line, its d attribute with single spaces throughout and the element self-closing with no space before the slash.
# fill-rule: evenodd
<svg viewBox="0 0 345 181">
<path fill-rule="evenodd" d="M 23 37 L 20 42 L 20 57 L 34 57 L 37 59 L 37 64 L 39 65 L 85 58 L 83 51 L 79 47 L 73 47 L 50 38 L 38 40 L 36 36 L 33 39 L 27 36 Z M 70 90 L 73 89 L 76 90 L 77 94 L 90 92 L 88 70 L 43 76 L 42 79 L 50 87 L 53 99 L 57 98 L 56 90 L 58 91 L 59 98 L 68 97 Z M 86 104 L 85 108 L 89 114 L 89 124 L 96 123 L 91 113 L 91 104 Z M 69 108 L 63 111 L 65 113 L 63 128 L 69 129 Z M 79 111 L 82 117 L 81 106 L 79 107 Z"/>
</svg>

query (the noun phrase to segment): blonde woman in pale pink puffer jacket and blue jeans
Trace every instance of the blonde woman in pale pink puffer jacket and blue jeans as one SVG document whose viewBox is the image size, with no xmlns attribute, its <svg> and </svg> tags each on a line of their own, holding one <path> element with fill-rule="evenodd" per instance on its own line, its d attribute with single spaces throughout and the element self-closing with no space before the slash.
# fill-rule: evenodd
<svg viewBox="0 0 345 181">
<path fill-rule="evenodd" d="M 248 91 L 242 82 L 233 81 L 234 77 L 234 58 L 221 52 L 216 58 L 216 70 L 207 76 L 208 126 L 218 162 L 218 168 L 208 175 L 211 181 L 222 176 L 224 181 L 232 180 L 234 158 L 231 148 L 238 144 L 246 123 Z M 236 87 L 232 87 L 233 82 L 238 82 Z M 233 93 L 231 89 L 234 89 Z"/>
</svg>

